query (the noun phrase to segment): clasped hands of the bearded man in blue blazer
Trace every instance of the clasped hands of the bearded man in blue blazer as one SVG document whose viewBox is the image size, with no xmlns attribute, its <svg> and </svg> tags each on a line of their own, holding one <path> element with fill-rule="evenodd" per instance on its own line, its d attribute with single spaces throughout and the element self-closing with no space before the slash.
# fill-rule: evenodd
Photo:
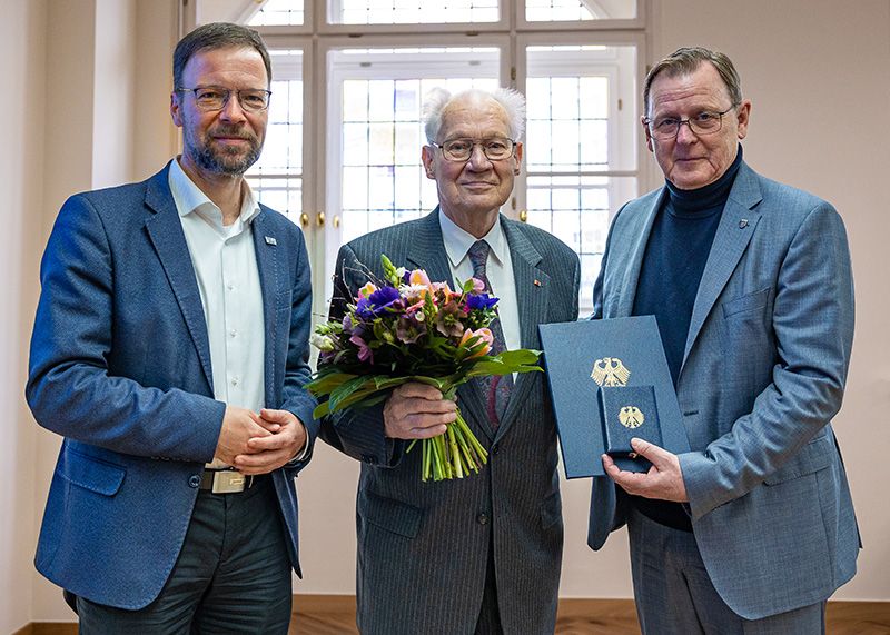
<svg viewBox="0 0 890 635">
<path fill-rule="evenodd" d="M 306 428 L 288 410 L 259 414 L 226 406 L 214 458 L 246 475 L 268 474 L 291 460 L 306 445 Z"/>
</svg>

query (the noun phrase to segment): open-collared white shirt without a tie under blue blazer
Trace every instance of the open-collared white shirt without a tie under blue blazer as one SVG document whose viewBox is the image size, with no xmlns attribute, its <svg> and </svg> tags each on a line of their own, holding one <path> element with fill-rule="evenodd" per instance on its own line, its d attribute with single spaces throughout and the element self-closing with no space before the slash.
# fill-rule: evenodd
<svg viewBox="0 0 890 635">
<path fill-rule="evenodd" d="M 245 182 L 241 212 L 225 226 L 222 211 L 178 160 L 170 165 L 168 182 L 204 307 L 214 398 L 258 413 L 265 406 L 266 334 L 251 221 L 259 205 Z M 208 464 L 225 466 L 218 459 Z"/>
</svg>

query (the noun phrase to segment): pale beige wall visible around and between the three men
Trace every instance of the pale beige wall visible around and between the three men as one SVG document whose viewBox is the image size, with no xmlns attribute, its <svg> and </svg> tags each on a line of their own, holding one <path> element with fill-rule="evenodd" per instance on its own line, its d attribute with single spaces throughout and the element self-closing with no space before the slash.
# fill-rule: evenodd
<svg viewBox="0 0 890 635">
<path fill-rule="evenodd" d="M 6 103 L 11 123 L 0 159 L 10 204 L 3 210 L 0 258 L 11 297 L 0 309 L 0 408 L 12 421 L 0 459 L 10 474 L 22 475 L 0 483 L 0 505 L 13 512 L 0 519 L 0 579 L 11 589 L 0 594 L 0 631 L 7 632 L 27 621 L 72 618 L 58 589 L 31 565 L 58 448 L 58 439 L 31 421 L 21 397 L 37 260 L 66 196 L 144 178 L 175 153 L 167 106 L 177 2 L 3 0 L 3 11 L 0 68 L 10 86 L 21 88 Z M 890 350 L 883 326 L 890 288 L 882 262 L 890 239 L 883 196 L 890 175 L 890 0 L 653 0 L 652 19 L 650 61 L 686 44 L 730 54 L 754 103 L 744 142 L 748 161 L 833 201 L 847 222 L 859 317 L 848 397 L 835 427 L 866 550 L 859 575 L 838 597 L 890 601 L 890 506 L 879 467 L 890 448 Z M 115 51 L 116 61 L 96 59 Z M 108 126 L 106 117 L 96 117 L 100 105 L 92 103 L 103 97 L 101 86 L 113 95 L 108 103 L 120 110 Z M 109 155 L 99 153 L 111 146 Z M 356 473 L 354 462 L 319 447 L 316 464 L 299 478 L 306 581 L 295 587 L 298 593 L 353 593 Z M 624 533 L 600 553 L 585 546 L 587 493 L 585 482 L 565 484 L 562 595 L 630 597 Z M 22 583 L 28 579 L 32 587 Z"/>
</svg>

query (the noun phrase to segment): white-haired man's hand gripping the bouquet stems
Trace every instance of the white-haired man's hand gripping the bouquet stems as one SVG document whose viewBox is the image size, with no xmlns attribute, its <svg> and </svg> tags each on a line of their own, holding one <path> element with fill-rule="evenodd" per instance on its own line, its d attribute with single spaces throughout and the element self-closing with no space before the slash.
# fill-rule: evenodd
<svg viewBox="0 0 890 635">
<path fill-rule="evenodd" d="M 433 386 L 403 384 L 383 408 L 386 436 L 394 439 L 428 439 L 442 435 L 457 418 L 457 404 L 443 399 Z"/>
</svg>

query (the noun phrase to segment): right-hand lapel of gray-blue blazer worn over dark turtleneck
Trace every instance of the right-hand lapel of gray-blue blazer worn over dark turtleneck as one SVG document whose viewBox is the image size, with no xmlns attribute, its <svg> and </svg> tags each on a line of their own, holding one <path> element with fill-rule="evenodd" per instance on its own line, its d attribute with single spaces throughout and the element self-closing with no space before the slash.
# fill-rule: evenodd
<svg viewBox="0 0 890 635">
<path fill-rule="evenodd" d="M 683 365 L 685 366 L 690 350 L 695 343 L 695 338 L 701 333 L 705 319 L 711 314 L 720 294 L 735 270 L 739 260 L 744 254 L 754 229 L 760 220 L 760 211 L 754 207 L 762 200 L 760 185 L 754 171 L 742 162 L 739 167 L 739 175 L 730 190 L 726 206 L 720 218 L 711 254 L 702 272 L 702 280 L 699 284 L 699 292 L 695 296 L 695 305 L 692 308 L 692 318 L 686 336 L 686 347 L 683 353 Z M 680 371 L 683 371 L 681 366 Z"/>
</svg>

